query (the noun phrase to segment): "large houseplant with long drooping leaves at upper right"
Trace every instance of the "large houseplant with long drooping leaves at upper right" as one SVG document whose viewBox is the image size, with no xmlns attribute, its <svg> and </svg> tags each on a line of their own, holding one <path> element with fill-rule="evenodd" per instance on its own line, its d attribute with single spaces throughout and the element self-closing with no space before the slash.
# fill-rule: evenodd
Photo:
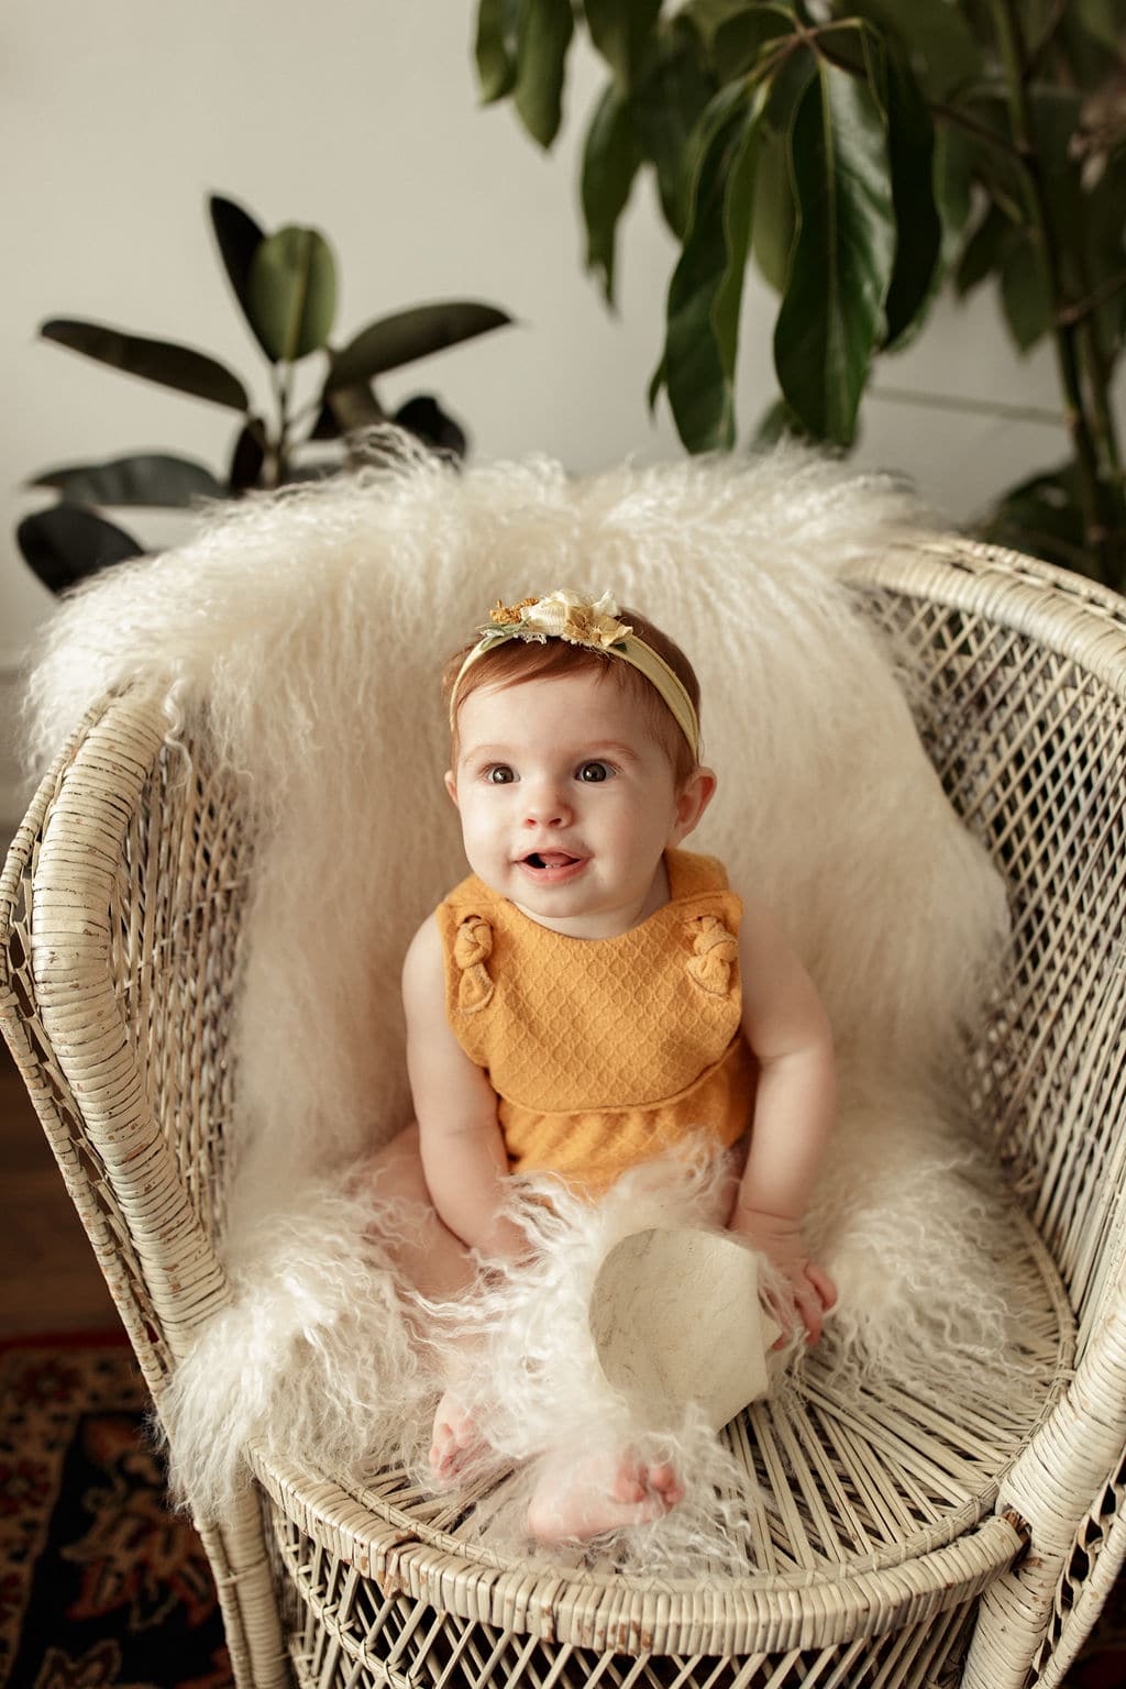
<svg viewBox="0 0 1126 1689">
<path fill-rule="evenodd" d="M 1053 343 L 1070 456 L 1003 493 L 988 534 L 1126 588 L 1126 0 L 479 0 L 483 98 L 544 147 L 577 30 L 608 68 L 587 265 L 613 301 L 652 172 L 680 253 L 650 397 L 684 444 L 736 441 L 751 257 L 780 296 L 765 427 L 837 446 L 939 289 L 994 280 L 1016 345 Z"/>
</svg>

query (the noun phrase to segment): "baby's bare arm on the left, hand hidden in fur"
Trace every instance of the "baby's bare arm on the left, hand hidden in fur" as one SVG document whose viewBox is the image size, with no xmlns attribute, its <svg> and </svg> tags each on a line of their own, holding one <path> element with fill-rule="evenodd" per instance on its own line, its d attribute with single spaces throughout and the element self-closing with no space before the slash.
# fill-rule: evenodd
<svg viewBox="0 0 1126 1689">
<path fill-rule="evenodd" d="M 425 921 L 403 963 L 407 1071 L 419 1120 L 422 1170 L 441 1219 L 483 1255 L 517 1255 L 523 1238 L 498 1218 L 508 1159 L 496 1093 L 446 1018 L 437 919 Z"/>
</svg>

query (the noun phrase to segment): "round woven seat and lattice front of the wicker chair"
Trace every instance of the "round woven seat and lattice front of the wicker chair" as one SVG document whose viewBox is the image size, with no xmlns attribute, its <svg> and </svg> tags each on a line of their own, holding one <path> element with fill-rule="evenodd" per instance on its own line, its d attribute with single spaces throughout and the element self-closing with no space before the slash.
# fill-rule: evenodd
<svg viewBox="0 0 1126 1689">
<path fill-rule="evenodd" d="M 685 1682 L 697 1681 L 701 1660 L 714 1667 L 726 1655 L 721 1686 L 741 1681 L 748 1657 L 800 1654 L 804 1672 L 810 1655 L 826 1669 L 839 1662 L 858 1611 L 876 1594 L 885 1623 L 908 1613 L 920 1621 L 923 1610 L 927 1620 L 964 1623 L 967 1601 L 1023 1547 L 1021 1520 L 994 1517 L 1004 1469 L 1070 1378 L 1067 1297 L 1031 1226 L 1025 1241 L 1028 1370 L 1003 1397 L 922 1397 L 883 1385 L 846 1400 L 826 1338 L 800 1397 L 756 1404 L 726 1427 L 723 1441 L 756 1495 L 744 1574 L 714 1566 L 690 1579 L 631 1578 L 596 1547 L 564 1564 L 559 1554 L 535 1557 L 532 1544 L 498 1552 L 464 1532 L 485 1490 L 434 1495 L 402 1468 L 314 1474 L 253 1449 L 253 1471 L 277 1502 L 275 1554 L 307 1603 L 302 1682 L 322 1681 L 329 1648 L 371 1670 L 397 1667 L 405 1682 L 439 1682 L 461 1645 L 469 1659 L 457 1682 L 506 1682 L 523 1657 L 530 1681 L 554 1669 L 554 1682 L 581 1689 L 613 1648 L 674 1655 Z M 447 1615 L 444 1625 L 417 1623 L 422 1594 Z M 491 1675 L 486 1637 L 498 1647 Z M 532 1637 L 539 1654 L 527 1652 Z M 886 1647 L 898 1645 L 893 1630 Z"/>
</svg>

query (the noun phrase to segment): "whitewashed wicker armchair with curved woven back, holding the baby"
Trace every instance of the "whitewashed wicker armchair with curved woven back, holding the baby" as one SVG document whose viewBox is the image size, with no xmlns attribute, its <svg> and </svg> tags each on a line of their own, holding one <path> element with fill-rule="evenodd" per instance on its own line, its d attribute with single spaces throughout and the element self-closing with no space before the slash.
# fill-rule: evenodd
<svg viewBox="0 0 1126 1689">
<path fill-rule="evenodd" d="M 920 728 L 1013 895 L 983 1121 L 1028 1214 L 1035 1388 L 878 1395 L 814 1371 L 726 1432 L 755 1571 L 636 1579 L 459 1539 L 405 1473 L 250 1451 L 204 1527 L 240 1689 L 976 1689 L 1058 1684 L 1126 1554 L 1126 606 L 959 540 L 858 571 L 925 665 Z M 0 1013 L 159 1405 L 230 1295 L 225 1056 L 252 839 L 140 691 L 91 714 L 0 883 Z"/>
</svg>

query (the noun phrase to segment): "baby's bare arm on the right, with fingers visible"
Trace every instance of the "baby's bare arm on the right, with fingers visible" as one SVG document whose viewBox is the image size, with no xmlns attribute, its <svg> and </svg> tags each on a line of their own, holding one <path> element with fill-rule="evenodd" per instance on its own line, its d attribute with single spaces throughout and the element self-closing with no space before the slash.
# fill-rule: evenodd
<svg viewBox="0 0 1126 1689">
<path fill-rule="evenodd" d="M 785 1272 L 809 1341 L 836 1302 L 832 1280 L 810 1262 L 802 1219 L 836 1110 L 829 1017 L 782 927 L 746 902 L 739 934 L 743 1030 L 760 1064 L 755 1123 L 731 1230 Z"/>
</svg>

